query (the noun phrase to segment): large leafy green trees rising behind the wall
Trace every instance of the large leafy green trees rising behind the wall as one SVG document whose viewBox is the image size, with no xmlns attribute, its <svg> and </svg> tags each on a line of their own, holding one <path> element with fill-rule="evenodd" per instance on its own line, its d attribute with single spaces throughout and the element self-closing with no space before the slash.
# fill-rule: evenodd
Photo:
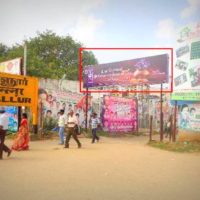
<svg viewBox="0 0 200 200">
<path fill-rule="evenodd" d="M 79 48 L 71 36 L 61 37 L 52 31 L 38 33 L 36 37 L 23 42 L 27 46 L 27 75 L 78 80 Z M 16 44 L 11 48 L 0 44 L 0 61 L 23 57 L 24 46 Z M 96 64 L 92 52 L 84 52 L 84 64 Z"/>
</svg>

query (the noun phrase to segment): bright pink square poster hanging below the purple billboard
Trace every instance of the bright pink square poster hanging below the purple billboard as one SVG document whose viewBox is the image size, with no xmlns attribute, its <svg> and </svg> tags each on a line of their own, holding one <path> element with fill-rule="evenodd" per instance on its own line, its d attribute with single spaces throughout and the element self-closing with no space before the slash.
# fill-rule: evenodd
<svg viewBox="0 0 200 200">
<path fill-rule="evenodd" d="M 102 122 L 105 131 L 130 132 L 137 130 L 137 109 L 134 99 L 104 96 Z"/>
</svg>

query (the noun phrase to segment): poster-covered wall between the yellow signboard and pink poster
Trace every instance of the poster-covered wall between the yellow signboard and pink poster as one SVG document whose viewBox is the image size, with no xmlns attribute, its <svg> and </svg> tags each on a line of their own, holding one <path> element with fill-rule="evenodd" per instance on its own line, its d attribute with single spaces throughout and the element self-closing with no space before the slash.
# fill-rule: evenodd
<svg viewBox="0 0 200 200">
<path fill-rule="evenodd" d="M 39 80 L 39 110 L 40 126 L 45 123 L 44 128 L 51 130 L 57 124 L 58 112 L 65 110 L 65 114 L 73 109 L 80 115 L 80 123 L 85 119 L 85 96 L 79 92 L 79 81 L 70 80 Z M 91 98 L 88 98 L 88 119 L 91 112 Z M 43 122 L 42 122 L 43 121 Z M 48 123 L 49 122 L 49 123 Z M 51 123 L 51 124 L 50 124 Z M 44 124 L 43 124 L 44 125 Z"/>
</svg>

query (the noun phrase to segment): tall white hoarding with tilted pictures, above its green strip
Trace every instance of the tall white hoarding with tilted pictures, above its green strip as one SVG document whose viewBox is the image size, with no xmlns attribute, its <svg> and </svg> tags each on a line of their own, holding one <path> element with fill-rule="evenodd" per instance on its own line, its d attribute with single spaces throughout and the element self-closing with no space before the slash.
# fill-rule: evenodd
<svg viewBox="0 0 200 200">
<path fill-rule="evenodd" d="M 200 22 L 178 32 L 175 48 L 174 91 L 200 90 Z"/>
</svg>

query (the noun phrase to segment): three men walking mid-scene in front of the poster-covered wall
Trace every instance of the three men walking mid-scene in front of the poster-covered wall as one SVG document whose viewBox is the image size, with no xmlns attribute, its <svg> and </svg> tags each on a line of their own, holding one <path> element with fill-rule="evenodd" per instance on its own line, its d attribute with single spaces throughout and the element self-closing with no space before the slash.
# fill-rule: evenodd
<svg viewBox="0 0 200 200">
<path fill-rule="evenodd" d="M 99 137 L 97 136 L 97 128 L 100 125 L 99 119 L 97 118 L 97 114 L 93 113 L 91 120 L 90 120 L 90 126 L 92 130 L 92 143 L 95 143 L 95 140 L 99 141 Z M 70 138 L 73 137 L 73 139 L 76 141 L 78 148 L 81 148 L 81 143 L 77 137 L 77 135 L 80 133 L 80 121 L 79 121 L 79 114 L 74 114 L 73 110 L 70 110 L 70 112 L 67 114 L 67 117 L 64 115 L 64 110 L 60 110 L 60 116 L 58 118 L 58 127 L 59 127 L 59 137 L 60 137 L 60 143 L 61 145 L 65 144 L 65 148 L 69 148 L 69 141 Z M 66 140 L 64 142 L 64 137 L 66 134 Z"/>
</svg>

